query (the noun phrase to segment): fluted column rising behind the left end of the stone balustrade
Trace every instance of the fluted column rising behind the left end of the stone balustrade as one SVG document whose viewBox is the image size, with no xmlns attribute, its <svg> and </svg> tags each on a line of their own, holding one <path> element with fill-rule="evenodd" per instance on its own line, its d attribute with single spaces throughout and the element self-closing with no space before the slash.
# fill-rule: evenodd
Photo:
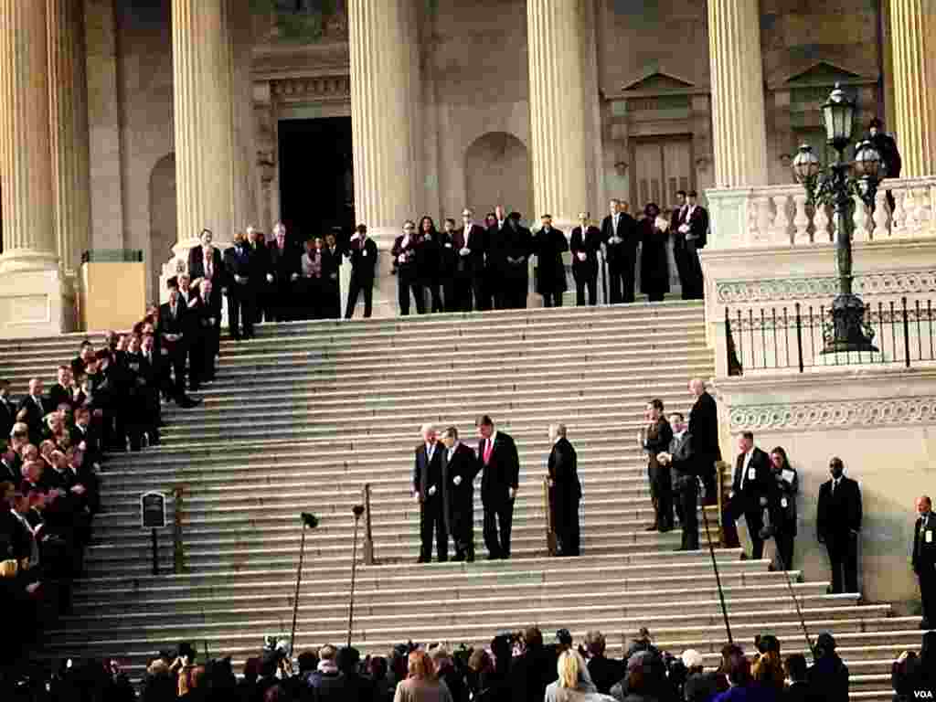
<svg viewBox="0 0 936 702">
<path fill-rule="evenodd" d="M 768 184 L 757 0 L 709 0 L 716 187 Z"/>
</svg>

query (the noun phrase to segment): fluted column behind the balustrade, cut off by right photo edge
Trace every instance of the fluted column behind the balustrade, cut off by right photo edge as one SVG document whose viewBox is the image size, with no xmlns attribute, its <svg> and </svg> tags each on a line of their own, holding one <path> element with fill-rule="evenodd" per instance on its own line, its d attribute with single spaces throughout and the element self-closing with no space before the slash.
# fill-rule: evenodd
<svg viewBox="0 0 936 702">
<path fill-rule="evenodd" d="M 890 0 L 900 177 L 936 173 L 936 0 Z"/>
</svg>

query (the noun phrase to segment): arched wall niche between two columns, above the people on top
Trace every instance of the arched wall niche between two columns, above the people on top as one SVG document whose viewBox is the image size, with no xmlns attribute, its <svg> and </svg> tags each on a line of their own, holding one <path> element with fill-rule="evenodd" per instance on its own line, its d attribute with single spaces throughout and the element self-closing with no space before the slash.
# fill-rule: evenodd
<svg viewBox="0 0 936 702">
<path fill-rule="evenodd" d="M 507 132 L 489 132 L 465 152 L 465 201 L 480 220 L 497 204 L 526 220 L 533 211 L 533 166 L 522 141 Z"/>
</svg>

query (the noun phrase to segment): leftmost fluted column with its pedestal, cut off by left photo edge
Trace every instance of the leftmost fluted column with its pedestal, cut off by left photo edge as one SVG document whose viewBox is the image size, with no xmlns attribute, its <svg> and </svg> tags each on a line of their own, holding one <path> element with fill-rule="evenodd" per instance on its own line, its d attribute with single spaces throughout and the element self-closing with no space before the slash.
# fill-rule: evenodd
<svg viewBox="0 0 936 702">
<path fill-rule="evenodd" d="M 58 333 L 66 307 L 53 228 L 46 4 L 0 0 L 0 336 Z"/>
</svg>

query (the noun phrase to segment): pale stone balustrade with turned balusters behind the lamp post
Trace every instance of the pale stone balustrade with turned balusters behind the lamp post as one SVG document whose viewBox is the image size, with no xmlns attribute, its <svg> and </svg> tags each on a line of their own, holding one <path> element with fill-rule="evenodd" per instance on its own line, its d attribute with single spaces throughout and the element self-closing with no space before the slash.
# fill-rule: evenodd
<svg viewBox="0 0 936 702">
<path fill-rule="evenodd" d="M 890 211 L 886 193 L 894 197 Z M 830 207 L 812 207 L 798 183 L 707 192 L 713 248 L 810 246 L 835 241 Z M 855 197 L 854 241 L 936 237 L 936 177 L 881 183 L 870 208 Z"/>
</svg>

